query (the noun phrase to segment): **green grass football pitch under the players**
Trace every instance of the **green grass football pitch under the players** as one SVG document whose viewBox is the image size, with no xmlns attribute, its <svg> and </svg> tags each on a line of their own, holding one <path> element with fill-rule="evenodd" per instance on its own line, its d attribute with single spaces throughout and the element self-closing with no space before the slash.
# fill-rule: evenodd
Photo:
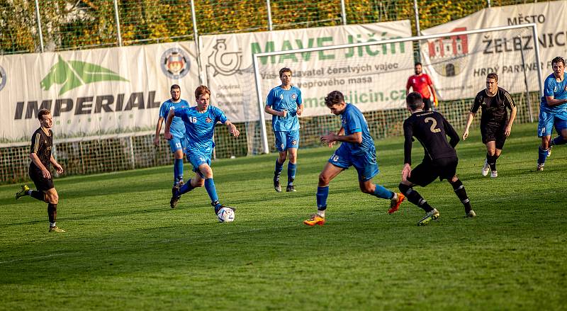
<svg viewBox="0 0 567 311">
<path fill-rule="evenodd" d="M 55 180 L 62 234 L 47 232 L 44 203 L 0 186 L 0 310 L 564 310 L 567 148 L 535 171 L 535 127 L 513 128 L 498 179 L 481 176 L 475 128 L 457 174 L 478 217 L 435 181 L 417 187 L 441 213 L 425 227 L 415 205 L 388 215 L 361 193 L 354 169 L 330 184 L 327 224 L 303 225 L 326 147 L 300 149 L 296 193 L 273 190 L 276 154 L 213 162 L 220 199 L 237 207 L 229 224 L 204 188 L 169 208 L 172 166 Z M 374 181 L 397 189 L 403 140 L 376 149 Z"/>
</svg>

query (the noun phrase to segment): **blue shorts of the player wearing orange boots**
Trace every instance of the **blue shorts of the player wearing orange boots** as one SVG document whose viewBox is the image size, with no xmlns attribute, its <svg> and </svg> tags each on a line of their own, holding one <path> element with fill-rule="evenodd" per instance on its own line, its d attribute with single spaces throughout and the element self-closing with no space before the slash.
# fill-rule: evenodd
<svg viewBox="0 0 567 311">
<path fill-rule="evenodd" d="M 341 145 L 341 147 L 332 154 L 329 159 L 330 164 L 342 169 L 348 169 L 350 166 L 354 166 L 359 174 L 359 181 L 369 181 L 380 172 L 378 170 L 378 163 L 376 163 L 375 150 L 354 156 L 350 154 L 345 146 L 344 144 Z"/>
</svg>

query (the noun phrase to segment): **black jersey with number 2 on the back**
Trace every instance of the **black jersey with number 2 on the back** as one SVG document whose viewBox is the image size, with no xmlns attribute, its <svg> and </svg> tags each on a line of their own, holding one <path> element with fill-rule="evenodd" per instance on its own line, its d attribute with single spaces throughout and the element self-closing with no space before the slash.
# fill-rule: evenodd
<svg viewBox="0 0 567 311">
<path fill-rule="evenodd" d="M 404 163 L 412 164 L 412 137 L 423 146 L 425 159 L 456 157 L 455 146 L 459 135 L 454 128 L 437 111 L 416 111 L 403 123 Z M 447 135 L 450 141 L 447 141 Z"/>
</svg>

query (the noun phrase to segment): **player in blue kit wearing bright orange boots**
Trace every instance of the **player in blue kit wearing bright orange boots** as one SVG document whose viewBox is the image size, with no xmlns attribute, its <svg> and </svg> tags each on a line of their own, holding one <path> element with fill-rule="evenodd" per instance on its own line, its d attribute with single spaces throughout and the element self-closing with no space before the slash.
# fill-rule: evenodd
<svg viewBox="0 0 567 311">
<path fill-rule="evenodd" d="M 357 169 L 360 190 L 377 198 L 391 200 L 388 213 L 394 213 L 400 208 L 405 196 L 372 182 L 372 177 L 378 174 L 376 147 L 374 147 L 374 140 L 370 136 L 364 115 L 352 103 L 345 103 L 344 96 L 339 91 L 329 93 L 325 97 L 325 105 L 331 110 L 331 113 L 341 116 L 342 126 L 337 134 L 330 132 L 321 136 L 321 142 L 325 142 L 329 147 L 332 147 L 335 142 L 342 142 L 342 144 L 335 150 L 319 175 L 317 213 L 303 223 L 310 226 L 325 224 L 329 183 L 350 166 Z"/>
</svg>

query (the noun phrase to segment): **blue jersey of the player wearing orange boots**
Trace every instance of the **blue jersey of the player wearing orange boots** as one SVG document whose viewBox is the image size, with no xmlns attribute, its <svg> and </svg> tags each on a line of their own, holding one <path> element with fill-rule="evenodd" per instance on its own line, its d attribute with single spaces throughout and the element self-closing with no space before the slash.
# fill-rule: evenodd
<svg viewBox="0 0 567 311">
<path fill-rule="evenodd" d="M 360 155 L 375 152 L 374 140 L 370 136 L 368 123 L 366 123 L 366 118 L 364 118 L 357 106 L 347 103 L 347 108 L 344 108 L 344 112 L 341 114 L 341 122 L 344 128 L 344 135 L 362 132 L 362 142 L 360 144 L 357 142 L 342 142 L 342 145 L 347 145 L 350 154 Z"/>
</svg>

